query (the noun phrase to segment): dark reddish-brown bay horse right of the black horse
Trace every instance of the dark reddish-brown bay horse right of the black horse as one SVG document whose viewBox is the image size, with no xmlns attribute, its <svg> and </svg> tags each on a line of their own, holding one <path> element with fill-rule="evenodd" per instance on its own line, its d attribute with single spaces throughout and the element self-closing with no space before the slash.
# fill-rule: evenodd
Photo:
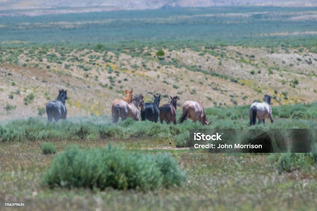
<svg viewBox="0 0 317 211">
<path fill-rule="evenodd" d="M 171 97 L 171 96 L 170 96 Z M 164 104 L 159 107 L 159 121 L 163 123 L 163 120 L 169 124 L 171 121 L 176 125 L 176 106 L 178 97 L 171 97 L 170 104 Z"/>
</svg>

